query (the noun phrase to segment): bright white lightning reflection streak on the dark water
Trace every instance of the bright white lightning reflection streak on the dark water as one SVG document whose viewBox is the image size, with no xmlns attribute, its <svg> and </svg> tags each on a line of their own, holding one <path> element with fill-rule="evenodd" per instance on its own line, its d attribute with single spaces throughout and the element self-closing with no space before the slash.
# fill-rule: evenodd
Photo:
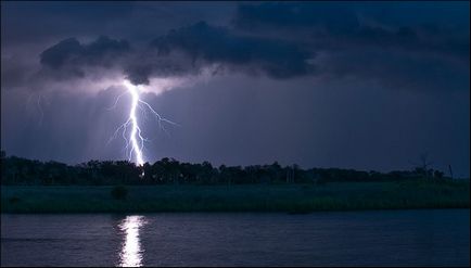
<svg viewBox="0 0 471 268">
<path fill-rule="evenodd" d="M 119 224 L 119 229 L 125 233 L 125 240 L 119 253 L 120 267 L 140 267 L 142 266 L 141 242 L 139 231 L 147 224 L 144 216 L 127 216 Z"/>
</svg>

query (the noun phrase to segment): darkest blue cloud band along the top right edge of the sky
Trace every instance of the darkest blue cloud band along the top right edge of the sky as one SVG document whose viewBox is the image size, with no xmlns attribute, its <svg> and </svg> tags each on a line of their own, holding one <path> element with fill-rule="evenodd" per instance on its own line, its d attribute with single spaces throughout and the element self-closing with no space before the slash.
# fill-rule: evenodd
<svg viewBox="0 0 471 268">
<path fill-rule="evenodd" d="M 467 2 L 264 2 L 239 4 L 231 24 L 254 29 L 324 29 L 349 33 L 364 25 L 469 28 Z"/>
</svg>

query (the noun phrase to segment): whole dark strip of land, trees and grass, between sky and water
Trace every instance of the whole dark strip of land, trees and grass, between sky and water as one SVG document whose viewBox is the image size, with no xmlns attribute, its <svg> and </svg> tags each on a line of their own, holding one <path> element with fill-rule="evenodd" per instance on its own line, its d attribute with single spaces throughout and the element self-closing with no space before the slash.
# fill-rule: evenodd
<svg viewBox="0 0 471 268">
<path fill-rule="evenodd" d="M 469 180 L 410 171 L 189 164 L 80 165 L 1 157 L 2 213 L 288 212 L 469 208 Z"/>
</svg>

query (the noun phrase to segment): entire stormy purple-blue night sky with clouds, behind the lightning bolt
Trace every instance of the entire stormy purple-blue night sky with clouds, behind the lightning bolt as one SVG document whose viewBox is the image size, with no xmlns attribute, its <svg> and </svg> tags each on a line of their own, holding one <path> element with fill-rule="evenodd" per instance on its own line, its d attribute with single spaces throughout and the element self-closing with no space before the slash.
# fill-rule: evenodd
<svg viewBox="0 0 471 268">
<path fill-rule="evenodd" d="M 125 159 L 123 80 L 145 159 L 469 177 L 469 2 L 3 2 L 1 148 Z M 109 142 L 110 141 L 110 142 Z"/>
</svg>

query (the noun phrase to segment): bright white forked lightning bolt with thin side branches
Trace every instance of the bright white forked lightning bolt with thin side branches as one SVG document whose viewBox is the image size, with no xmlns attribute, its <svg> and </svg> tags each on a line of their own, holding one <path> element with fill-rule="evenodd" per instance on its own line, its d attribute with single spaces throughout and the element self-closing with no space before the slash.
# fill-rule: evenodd
<svg viewBox="0 0 471 268">
<path fill-rule="evenodd" d="M 145 109 L 148 111 L 151 112 L 152 115 L 154 115 L 154 117 L 156 118 L 158 126 L 162 130 L 164 130 L 166 133 L 167 130 L 165 129 L 164 125 L 162 123 L 167 123 L 174 126 L 179 126 L 178 124 L 164 118 L 163 116 L 161 116 L 157 112 L 155 112 L 154 109 L 152 109 L 152 106 L 141 100 L 140 98 L 140 93 L 141 93 L 141 89 L 140 86 L 135 86 L 131 82 L 129 82 L 128 80 L 124 80 L 123 85 L 126 87 L 127 91 L 119 94 L 116 98 L 116 101 L 114 103 L 114 105 L 112 107 L 110 107 L 109 110 L 112 110 L 114 107 L 116 107 L 117 102 L 119 101 L 119 99 L 125 94 L 125 93 L 129 93 L 131 95 L 131 106 L 129 110 L 129 116 L 127 118 L 127 120 L 125 123 L 123 123 L 114 132 L 114 135 L 110 138 L 109 143 L 115 139 L 119 132 L 119 130 L 122 130 L 122 136 L 123 139 L 126 142 L 126 148 L 125 150 L 127 151 L 127 155 L 128 155 L 128 159 L 129 162 L 133 162 L 138 165 L 138 166 L 142 166 L 145 161 L 144 161 L 144 155 L 142 153 L 142 150 L 144 148 L 144 141 L 148 141 L 148 139 L 145 139 L 144 137 L 142 137 L 142 130 L 139 126 L 139 117 L 138 117 L 138 113 L 137 113 L 137 109 L 141 109 L 143 111 L 145 111 Z M 129 136 L 127 137 L 127 132 L 128 132 L 128 128 L 130 128 L 130 132 Z"/>
</svg>

